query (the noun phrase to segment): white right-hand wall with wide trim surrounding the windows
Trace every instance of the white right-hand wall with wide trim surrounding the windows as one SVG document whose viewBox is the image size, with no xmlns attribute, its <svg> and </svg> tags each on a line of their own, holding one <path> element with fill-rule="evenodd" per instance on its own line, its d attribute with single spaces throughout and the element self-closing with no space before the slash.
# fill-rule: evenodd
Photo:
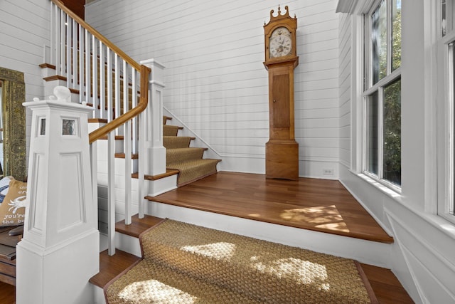
<svg viewBox="0 0 455 304">
<path fill-rule="evenodd" d="M 394 237 L 390 268 L 416 303 L 455 303 L 455 227 L 433 212 L 436 149 L 426 144 L 437 136 L 435 111 L 429 111 L 434 88 L 427 81 L 434 75 L 431 35 L 437 26 L 432 18 L 436 7 L 434 1 L 402 1 L 402 194 L 356 174 L 361 157 L 356 116 L 362 90 L 362 61 L 357 58 L 363 46 L 359 49 L 355 39 L 361 37 L 362 17 L 340 14 L 339 25 L 340 180 Z M 347 127 L 343 130 L 348 125 L 349 132 Z"/>
</svg>

